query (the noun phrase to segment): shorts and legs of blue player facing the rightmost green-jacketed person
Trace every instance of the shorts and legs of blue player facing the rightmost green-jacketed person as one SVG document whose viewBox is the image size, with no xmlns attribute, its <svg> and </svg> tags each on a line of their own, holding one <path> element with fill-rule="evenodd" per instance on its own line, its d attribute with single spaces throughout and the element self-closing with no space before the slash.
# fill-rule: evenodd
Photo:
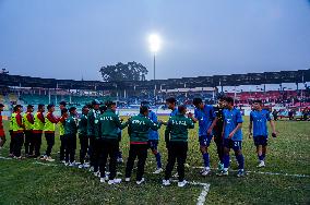
<svg viewBox="0 0 310 205">
<path fill-rule="evenodd" d="M 203 165 L 204 165 L 204 169 L 201 171 L 201 174 L 207 176 L 211 171 L 210 155 L 208 155 L 207 148 L 210 146 L 212 135 L 203 135 L 203 136 L 200 136 L 199 138 L 200 138 L 200 150 L 202 154 Z"/>
</svg>

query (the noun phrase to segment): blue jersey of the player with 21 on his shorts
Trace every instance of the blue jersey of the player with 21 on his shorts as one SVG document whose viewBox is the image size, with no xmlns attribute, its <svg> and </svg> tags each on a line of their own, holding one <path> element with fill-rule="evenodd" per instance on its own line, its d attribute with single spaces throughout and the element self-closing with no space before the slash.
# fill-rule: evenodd
<svg viewBox="0 0 310 205">
<path fill-rule="evenodd" d="M 235 130 L 238 125 L 238 123 L 242 123 L 242 116 L 240 110 L 234 108 L 231 110 L 224 109 L 223 110 L 223 117 L 224 117 L 224 138 L 228 138 L 228 135 Z M 239 129 L 235 135 L 231 137 L 233 141 L 242 141 L 242 131 Z"/>
</svg>

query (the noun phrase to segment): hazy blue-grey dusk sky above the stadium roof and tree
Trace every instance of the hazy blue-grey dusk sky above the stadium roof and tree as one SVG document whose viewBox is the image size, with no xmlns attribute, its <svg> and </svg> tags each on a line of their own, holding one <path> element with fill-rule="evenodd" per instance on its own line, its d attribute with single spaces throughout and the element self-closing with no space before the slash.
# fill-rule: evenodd
<svg viewBox="0 0 310 205">
<path fill-rule="evenodd" d="M 0 69 L 102 80 L 136 61 L 157 79 L 310 68 L 307 0 L 0 0 Z"/>
</svg>

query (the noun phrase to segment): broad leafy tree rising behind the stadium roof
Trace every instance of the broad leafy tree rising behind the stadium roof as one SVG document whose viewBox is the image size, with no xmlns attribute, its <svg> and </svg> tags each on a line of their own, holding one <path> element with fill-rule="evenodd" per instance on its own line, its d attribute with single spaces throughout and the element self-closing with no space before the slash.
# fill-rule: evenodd
<svg viewBox="0 0 310 205">
<path fill-rule="evenodd" d="M 148 73 L 145 67 L 134 61 L 127 64 L 119 62 L 116 65 L 102 67 L 99 72 L 104 82 L 145 81 L 145 75 Z"/>
</svg>

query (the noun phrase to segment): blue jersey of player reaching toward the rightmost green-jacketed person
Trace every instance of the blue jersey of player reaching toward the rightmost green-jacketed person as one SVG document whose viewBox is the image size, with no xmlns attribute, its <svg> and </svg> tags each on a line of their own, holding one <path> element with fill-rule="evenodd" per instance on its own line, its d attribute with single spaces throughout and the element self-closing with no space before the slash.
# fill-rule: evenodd
<svg viewBox="0 0 310 205">
<path fill-rule="evenodd" d="M 213 106 L 205 105 L 202 110 L 195 108 L 194 117 L 199 120 L 199 135 L 207 135 L 206 132 L 216 117 Z"/>
</svg>

